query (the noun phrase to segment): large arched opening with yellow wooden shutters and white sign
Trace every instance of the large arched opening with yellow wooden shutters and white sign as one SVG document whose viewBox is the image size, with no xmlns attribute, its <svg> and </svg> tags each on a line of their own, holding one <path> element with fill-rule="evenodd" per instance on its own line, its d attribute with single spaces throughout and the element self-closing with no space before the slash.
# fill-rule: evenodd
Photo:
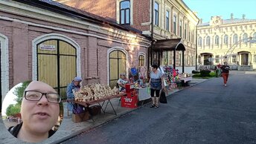
<svg viewBox="0 0 256 144">
<path fill-rule="evenodd" d="M 67 82 L 77 76 L 77 48 L 61 39 L 47 39 L 36 45 L 36 52 L 36 80 L 47 82 L 65 99 Z"/>
</svg>

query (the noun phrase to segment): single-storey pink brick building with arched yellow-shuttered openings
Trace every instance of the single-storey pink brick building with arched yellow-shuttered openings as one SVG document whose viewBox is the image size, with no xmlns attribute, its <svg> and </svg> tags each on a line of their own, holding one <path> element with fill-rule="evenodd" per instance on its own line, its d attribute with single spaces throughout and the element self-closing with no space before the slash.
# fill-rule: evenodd
<svg viewBox="0 0 256 144">
<path fill-rule="evenodd" d="M 26 80 L 62 95 L 74 76 L 115 85 L 119 73 L 147 65 L 150 39 L 141 33 L 55 1 L 0 1 L 2 99 Z"/>
</svg>

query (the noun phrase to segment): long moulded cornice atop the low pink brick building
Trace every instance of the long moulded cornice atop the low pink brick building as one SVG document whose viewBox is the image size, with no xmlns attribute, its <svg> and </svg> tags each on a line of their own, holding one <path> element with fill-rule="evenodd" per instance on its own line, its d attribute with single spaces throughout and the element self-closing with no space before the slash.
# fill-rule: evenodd
<svg viewBox="0 0 256 144">
<path fill-rule="evenodd" d="M 110 33 L 112 36 L 119 36 L 119 38 L 122 39 L 124 39 L 124 37 L 127 37 L 127 39 L 138 39 L 140 41 L 147 41 L 144 36 L 140 36 L 135 33 L 129 33 L 118 28 L 118 30 L 116 30 L 112 27 L 100 26 L 99 24 L 94 24 L 93 22 L 90 22 L 90 19 L 87 19 L 88 22 L 86 21 L 86 19 L 74 19 L 72 17 L 63 16 L 60 13 L 54 13 L 38 7 L 32 7 L 28 4 L 21 4 L 16 1 L 1 0 L 0 11 L 4 13 L 14 14 L 17 16 L 25 16 L 31 19 L 39 19 L 44 22 L 52 22 L 55 24 L 63 24 L 66 26 L 77 27 L 82 30 L 92 30 L 97 33 L 103 33 L 108 35 Z"/>
</svg>

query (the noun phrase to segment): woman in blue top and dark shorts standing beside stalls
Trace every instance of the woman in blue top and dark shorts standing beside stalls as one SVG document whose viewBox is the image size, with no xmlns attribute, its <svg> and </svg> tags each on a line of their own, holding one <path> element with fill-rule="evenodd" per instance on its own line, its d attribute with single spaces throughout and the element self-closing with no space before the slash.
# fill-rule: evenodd
<svg viewBox="0 0 256 144">
<path fill-rule="evenodd" d="M 164 79 L 163 74 L 158 70 L 158 68 L 158 65 L 152 65 L 152 71 L 150 73 L 150 96 L 152 99 L 152 105 L 150 108 L 159 108 L 160 90 L 162 88 Z"/>
</svg>

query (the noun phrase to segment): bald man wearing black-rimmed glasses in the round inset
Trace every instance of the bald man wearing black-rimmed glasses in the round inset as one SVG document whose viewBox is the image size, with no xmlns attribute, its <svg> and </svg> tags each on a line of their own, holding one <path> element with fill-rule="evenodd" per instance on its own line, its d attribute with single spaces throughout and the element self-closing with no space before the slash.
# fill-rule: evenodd
<svg viewBox="0 0 256 144">
<path fill-rule="evenodd" d="M 60 115 L 60 95 L 50 85 L 32 81 L 22 98 L 22 122 L 8 128 L 10 134 L 28 143 L 39 143 L 51 137 Z"/>
</svg>

